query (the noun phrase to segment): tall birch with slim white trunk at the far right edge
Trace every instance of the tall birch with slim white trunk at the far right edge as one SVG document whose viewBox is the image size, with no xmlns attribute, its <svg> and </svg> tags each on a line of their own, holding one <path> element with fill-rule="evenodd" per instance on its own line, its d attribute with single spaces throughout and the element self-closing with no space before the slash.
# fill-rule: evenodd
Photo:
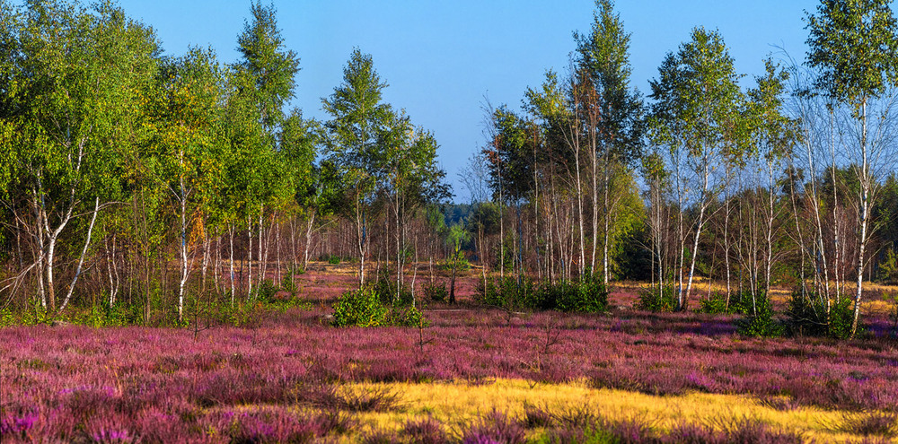
<svg viewBox="0 0 898 444">
<path fill-rule="evenodd" d="M 893 162 L 887 143 L 894 125 L 895 78 L 898 75 L 898 22 L 887 0 L 823 0 L 816 14 L 807 15 L 810 36 L 808 65 L 819 71 L 814 84 L 840 104 L 853 121 L 847 152 L 860 183 L 858 206 L 857 290 L 851 335 L 858 329 L 864 286 L 865 249 L 869 239 L 870 206 L 876 201 L 879 178 Z M 874 118 L 870 118 L 870 110 Z"/>
</svg>

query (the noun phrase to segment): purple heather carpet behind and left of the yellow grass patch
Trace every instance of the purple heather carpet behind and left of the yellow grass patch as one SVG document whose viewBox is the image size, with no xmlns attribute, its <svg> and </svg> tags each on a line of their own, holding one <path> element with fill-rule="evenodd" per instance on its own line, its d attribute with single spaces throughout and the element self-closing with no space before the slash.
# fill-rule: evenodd
<svg viewBox="0 0 898 444">
<path fill-rule="evenodd" d="M 731 317 L 635 310 L 435 309 L 423 330 L 336 328 L 325 315 L 289 309 L 252 327 L 198 333 L 0 329 L 4 442 L 201 440 L 198 431 L 210 427 L 230 430 L 231 441 L 254 427 L 273 428 L 274 441 L 321 438 L 351 418 L 339 408 L 297 416 L 286 406 L 339 406 L 333 387 L 342 381 L 586 380 L 653 395 L 745 394 L 784 408 L 898 412 L 898 353 L 887 337 L 756 339 L 736 335 Z M 238 413 L 237 405 L 259 408 Z"/>
</svg>

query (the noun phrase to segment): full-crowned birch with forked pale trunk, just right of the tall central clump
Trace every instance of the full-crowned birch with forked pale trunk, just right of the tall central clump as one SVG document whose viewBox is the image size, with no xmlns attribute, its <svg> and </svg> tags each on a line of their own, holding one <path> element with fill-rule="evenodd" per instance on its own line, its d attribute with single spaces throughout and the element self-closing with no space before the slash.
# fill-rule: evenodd
<svg viewBox="0 0 898 444">
<path fill-rule="evenodd" d="M 718 31 L 692 30 L 691 40 L 675 55 L 668 54 L 658 71 L 659 78 L 651 82 L 656 102 L 650 134 L 667 147 L 668 168 L 673 168 L 680 241 L 677 309 L 684 309 L 709 205 L 726 185 L 726 165 L 740 161 L 742 155 L 744 97 L 733 58 Z M 697 213 L 691 223 L 691 248 L 686 226 L 690 206 Z"/>
</svg>

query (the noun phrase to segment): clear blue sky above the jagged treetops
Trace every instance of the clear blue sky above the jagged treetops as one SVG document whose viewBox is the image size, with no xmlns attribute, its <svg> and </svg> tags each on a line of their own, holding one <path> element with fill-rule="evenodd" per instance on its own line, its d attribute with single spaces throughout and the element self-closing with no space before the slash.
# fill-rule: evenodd
<svg viewBox="0 0 898 444">
<path fill-rule="evenodd" d="M 268 1 L 268 0 L 266 0 Z M 131 17 L 154 27 L 168 55 L 190 45 L 211 46 L 227 63 L 237 59 L 237 35 L 249 0 L 121 0 Z M 321 98 L 342 79 L 352 48 L 374 57 L 390 84 L 384 100 L 432 130 L 440 162 L 464 202 L 458 174 L 484 144 L 482 105 L 518 108 L 546 69 L 568 69 L 572 32 L 588 32 L 591 0 L 275 0 L 286 46 L 301 58 L 292 105 L 307 118 L 326 119 Z M 633 84 L 644 93 L 667 52 L 695 26 L 718 29 L 746 77 L 779 48 L 805 57 L 805 11 L 816 0 L 618 0 L 632 35 Z M 776 55 L 775 55 L 776 56 Z"/>
</svg>

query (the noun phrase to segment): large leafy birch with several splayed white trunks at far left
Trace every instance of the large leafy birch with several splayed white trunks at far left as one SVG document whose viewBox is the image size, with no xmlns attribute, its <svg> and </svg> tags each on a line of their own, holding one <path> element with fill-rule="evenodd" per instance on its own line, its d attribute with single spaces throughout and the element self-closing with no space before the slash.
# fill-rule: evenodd
<svg viewBox="0 0 898 444">
<path fill-rule="evenodd" d="M 2 6 L 4 56 L 13 62 L 0 73 L 12 167 L 6 206 L 36 245 L 28 269 L 40 303 L 56 311 L 83 274 L 99 213 L 127 195 L 158 46 L 152 30 L 110 2 L 92 11 L 64 1 L 26 2 L 23 13 Z M 75 270 L 66 283 L 57 282 L 61 239 L 80 247 L 68 252 Z"/>
</svg>

